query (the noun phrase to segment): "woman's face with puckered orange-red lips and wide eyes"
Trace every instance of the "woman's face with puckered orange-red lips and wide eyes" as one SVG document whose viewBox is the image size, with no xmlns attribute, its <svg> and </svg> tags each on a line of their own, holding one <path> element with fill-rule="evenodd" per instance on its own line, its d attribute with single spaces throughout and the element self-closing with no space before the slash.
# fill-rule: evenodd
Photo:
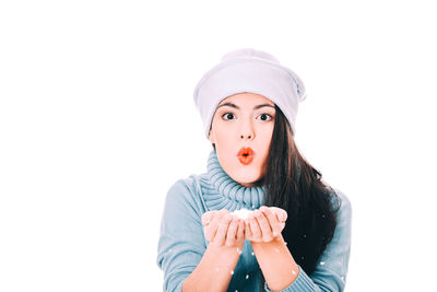
<svg viewBox="0 0 437 292">
<path fill-rule="evenodd" d="M 240 185 L 251 187 L 264 175 L 274 116 L 273 102 L 246 92 L 223 100 L 215 110 L 210 141 L 223 170 Z"/>
</svg>

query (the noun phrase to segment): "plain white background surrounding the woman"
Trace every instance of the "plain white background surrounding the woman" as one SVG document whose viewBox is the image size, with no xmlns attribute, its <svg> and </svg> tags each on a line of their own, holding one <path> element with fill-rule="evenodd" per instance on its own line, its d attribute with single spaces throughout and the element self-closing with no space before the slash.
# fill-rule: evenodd
<svg viewBox="0 0 437 292">
<path fill-rule="evenodd" d="M 162 291 L 166 191 L 205 171 L 227 51 L 297 72 L 298 147 L 353 205 L 346 291 L 435 289 L 433 1 L 2 1 L 0 291 Z"/>
</svg>

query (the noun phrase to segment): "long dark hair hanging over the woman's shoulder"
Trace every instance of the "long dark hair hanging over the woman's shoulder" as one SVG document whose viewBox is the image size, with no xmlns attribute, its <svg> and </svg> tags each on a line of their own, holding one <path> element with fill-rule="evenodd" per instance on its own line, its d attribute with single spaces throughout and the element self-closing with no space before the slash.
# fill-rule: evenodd
<svg viewBox="0 0 437 292">
<path fill-rule="evenodd" d="M 275 105 L 276 115 L 265 174 L 264 205 L 287 212 L 282 236 L 296 264 L 311 275 L 331 242 L 341 200 L 322 175 L 299 153 L 290 124 Z M 261 272 L 261 285 L 264 278 Z M 263 291 L 263 289 L 262 289 Z"/>
</svg>

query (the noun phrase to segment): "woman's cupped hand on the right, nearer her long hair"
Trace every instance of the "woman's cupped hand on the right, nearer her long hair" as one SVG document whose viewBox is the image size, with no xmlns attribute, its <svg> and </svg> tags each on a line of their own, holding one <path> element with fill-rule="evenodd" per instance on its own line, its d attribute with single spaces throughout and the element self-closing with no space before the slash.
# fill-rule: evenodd
<svg viewBox="0 0 437 292">
<path fill-rule="evenodd" d="M 285 210 L 262 206 L 245 220 L 246 240 L 268 243 L 280 238 L 286 219 Z"/>
</svg>

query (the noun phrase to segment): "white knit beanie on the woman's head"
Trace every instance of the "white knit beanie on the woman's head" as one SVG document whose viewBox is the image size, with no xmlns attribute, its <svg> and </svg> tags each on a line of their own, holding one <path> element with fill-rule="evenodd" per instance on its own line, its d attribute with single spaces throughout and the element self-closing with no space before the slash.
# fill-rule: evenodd
<svg viewBox="0 0 437 292">
<path fill-rule="evenodd" d="M 306 98 L 300 78 L 282 66 L 272 55 L 244 48 L 229 51 L 218 65 L 209 70 L 194 90 L 194 103 L 209 138 L 215 109 L 224 98 L 243 92 L 262 95 L 284 113 L 296 133 L 295 122 L 299 102 Z"/>
</svg>

